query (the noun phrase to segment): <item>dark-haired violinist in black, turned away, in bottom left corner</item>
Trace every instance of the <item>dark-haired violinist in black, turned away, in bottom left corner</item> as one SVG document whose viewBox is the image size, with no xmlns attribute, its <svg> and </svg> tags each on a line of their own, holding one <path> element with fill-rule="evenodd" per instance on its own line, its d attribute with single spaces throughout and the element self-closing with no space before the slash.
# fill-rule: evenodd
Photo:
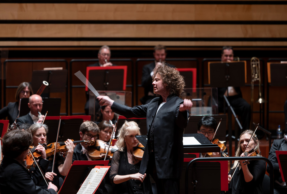
<svg viewBox="0 0 287 194">
<path fill-rule="evenodd" d="M 51 182 L 48 189 L 35 185 L 32 175 L 26 170 L 24 158 L 32 143 L 32 135 L 27 131 L 13 130 L 7 132 L 2 140 L 5 155 L 0 166 L 0 192 L 8 193 L 56 193 L 57 187 Z"/>
</svg>

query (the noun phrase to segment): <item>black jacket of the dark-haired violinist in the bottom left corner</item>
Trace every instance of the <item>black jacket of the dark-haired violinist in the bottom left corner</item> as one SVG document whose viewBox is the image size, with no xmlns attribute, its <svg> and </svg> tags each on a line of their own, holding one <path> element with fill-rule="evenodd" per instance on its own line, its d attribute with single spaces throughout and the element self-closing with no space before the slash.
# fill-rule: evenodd
<svg viewBox="0 0 287 194">
<path fill-rule="evenodd" d="M 29 173 L 16 160 L 4 157 L 0 167 L 0 193 L 56 194 L 54 189 L 36 186 Z"/>
</svg>

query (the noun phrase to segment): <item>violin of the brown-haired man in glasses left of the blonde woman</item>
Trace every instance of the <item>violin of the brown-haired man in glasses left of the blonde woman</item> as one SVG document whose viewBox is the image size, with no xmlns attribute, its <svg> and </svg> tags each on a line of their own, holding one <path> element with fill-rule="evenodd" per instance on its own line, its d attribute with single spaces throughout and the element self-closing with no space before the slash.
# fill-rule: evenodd
<svg viewBox="0 0 287 194">
<path fill-rule="evenodd" d="M 88 148 L 88 155 L 92 160 L 101 160 L 105 157 L 106 152 L 108 150 L 107 156 L 109 158 L 113 157 L 113 154 L 115 151 L 118 150 L 117 146 L 109 146 L 106 144 L 106 142 L 97 139 L 94 146 Z"/>
</svg>

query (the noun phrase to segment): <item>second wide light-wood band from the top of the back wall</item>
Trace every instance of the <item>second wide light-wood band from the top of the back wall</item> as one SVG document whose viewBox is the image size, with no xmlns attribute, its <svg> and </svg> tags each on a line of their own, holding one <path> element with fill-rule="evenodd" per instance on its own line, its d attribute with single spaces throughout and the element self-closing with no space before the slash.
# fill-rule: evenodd
<svg viewBox="0 0 287 194">
<path fill-rule="evenodd" d="M 283 24 L 0 24 L 0 29 L 1 38 L 287 38 Z"/>
</svg>

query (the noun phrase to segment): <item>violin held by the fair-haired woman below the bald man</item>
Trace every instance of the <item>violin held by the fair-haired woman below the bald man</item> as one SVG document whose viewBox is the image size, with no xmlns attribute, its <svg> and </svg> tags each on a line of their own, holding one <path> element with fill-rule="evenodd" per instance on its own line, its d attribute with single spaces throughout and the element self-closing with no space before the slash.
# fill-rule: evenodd
<svg viewBox="0 0 287 194">
<path fill-rule="evenodd" d="M 73 141 L 73 143 L 81 143 L 81 142 L 86 142 L 86 144 L 90 144 L 90 146 L 95 144 L 94 140 L 88 141 L 88 140 L 79 140 L 79 141 L 74 141 L 73 139 L 71 139 Z M 66 148 L 66 144 L 65 141 L 62 142 L 58 142 L 57 146 L 55 146 L 56 142 L 54 143 L 50 143 L 49 145 L 46 146 L 46 156 L 52 156 L 55 154 L 56 152 L 67 152 L 67 148 Z"/>
</svg>

